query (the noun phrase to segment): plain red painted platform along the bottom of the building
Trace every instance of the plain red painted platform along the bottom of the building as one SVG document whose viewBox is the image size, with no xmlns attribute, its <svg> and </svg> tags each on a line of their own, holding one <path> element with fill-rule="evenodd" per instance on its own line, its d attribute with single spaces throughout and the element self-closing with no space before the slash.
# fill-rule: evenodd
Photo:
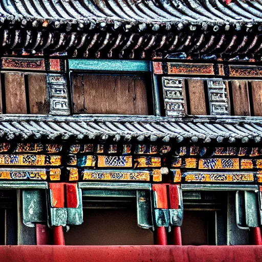
<svg viewBox="0 0 262 262">
<path fill-rule="evenodd" d="M 0 246 L 0 261 L 262 261 L 261 246 Z"/>
</svg>

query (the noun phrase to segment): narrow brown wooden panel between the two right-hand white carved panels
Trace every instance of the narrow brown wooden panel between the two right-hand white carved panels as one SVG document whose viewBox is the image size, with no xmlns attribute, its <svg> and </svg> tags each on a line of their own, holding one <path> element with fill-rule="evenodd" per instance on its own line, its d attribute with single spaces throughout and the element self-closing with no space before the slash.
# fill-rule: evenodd
<svg viewBox="0 0 262 262">
<path fill-rule="evenodd" d="M 201 79 L 188 79 L 188 93 L 191 115 L 206 115 L 206 100 L 204 81 Z"/>
</svg>

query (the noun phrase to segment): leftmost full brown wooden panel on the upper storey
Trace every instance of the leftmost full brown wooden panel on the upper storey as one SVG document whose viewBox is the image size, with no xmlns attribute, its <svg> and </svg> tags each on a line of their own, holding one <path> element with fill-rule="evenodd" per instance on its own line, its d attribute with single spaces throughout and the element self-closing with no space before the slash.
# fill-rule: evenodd
<svg viewBox="0 0 262 262">
<path fill-rule="evenodd" d="M 5 93 L 7 114 L 27 114 L 24 74 L 5 73 Z"/>
</svg>

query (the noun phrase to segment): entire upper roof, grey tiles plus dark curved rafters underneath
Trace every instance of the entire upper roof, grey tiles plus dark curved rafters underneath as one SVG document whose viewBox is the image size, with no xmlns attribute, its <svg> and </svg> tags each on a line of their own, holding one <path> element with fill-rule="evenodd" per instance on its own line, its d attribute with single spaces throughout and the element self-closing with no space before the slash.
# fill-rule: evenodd
<svg viewBox="0 0 262 262">
<path fill-rule="evenodd" d="M 3 0 L 0 52 L 260 60 L 261 11 L 260 0 Z"/>
</svg>

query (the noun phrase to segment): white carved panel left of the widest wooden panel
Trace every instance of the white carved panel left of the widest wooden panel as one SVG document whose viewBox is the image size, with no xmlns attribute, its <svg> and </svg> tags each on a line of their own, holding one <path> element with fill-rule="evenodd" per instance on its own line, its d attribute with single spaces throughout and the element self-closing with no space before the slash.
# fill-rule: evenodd
<svg viewBox="0 0 262 262">
<path fill-rule="evenodd" d="M 70 115 L 67 80 L 65 75 L 47 74 L 50 114 Z"/>
</svg>

